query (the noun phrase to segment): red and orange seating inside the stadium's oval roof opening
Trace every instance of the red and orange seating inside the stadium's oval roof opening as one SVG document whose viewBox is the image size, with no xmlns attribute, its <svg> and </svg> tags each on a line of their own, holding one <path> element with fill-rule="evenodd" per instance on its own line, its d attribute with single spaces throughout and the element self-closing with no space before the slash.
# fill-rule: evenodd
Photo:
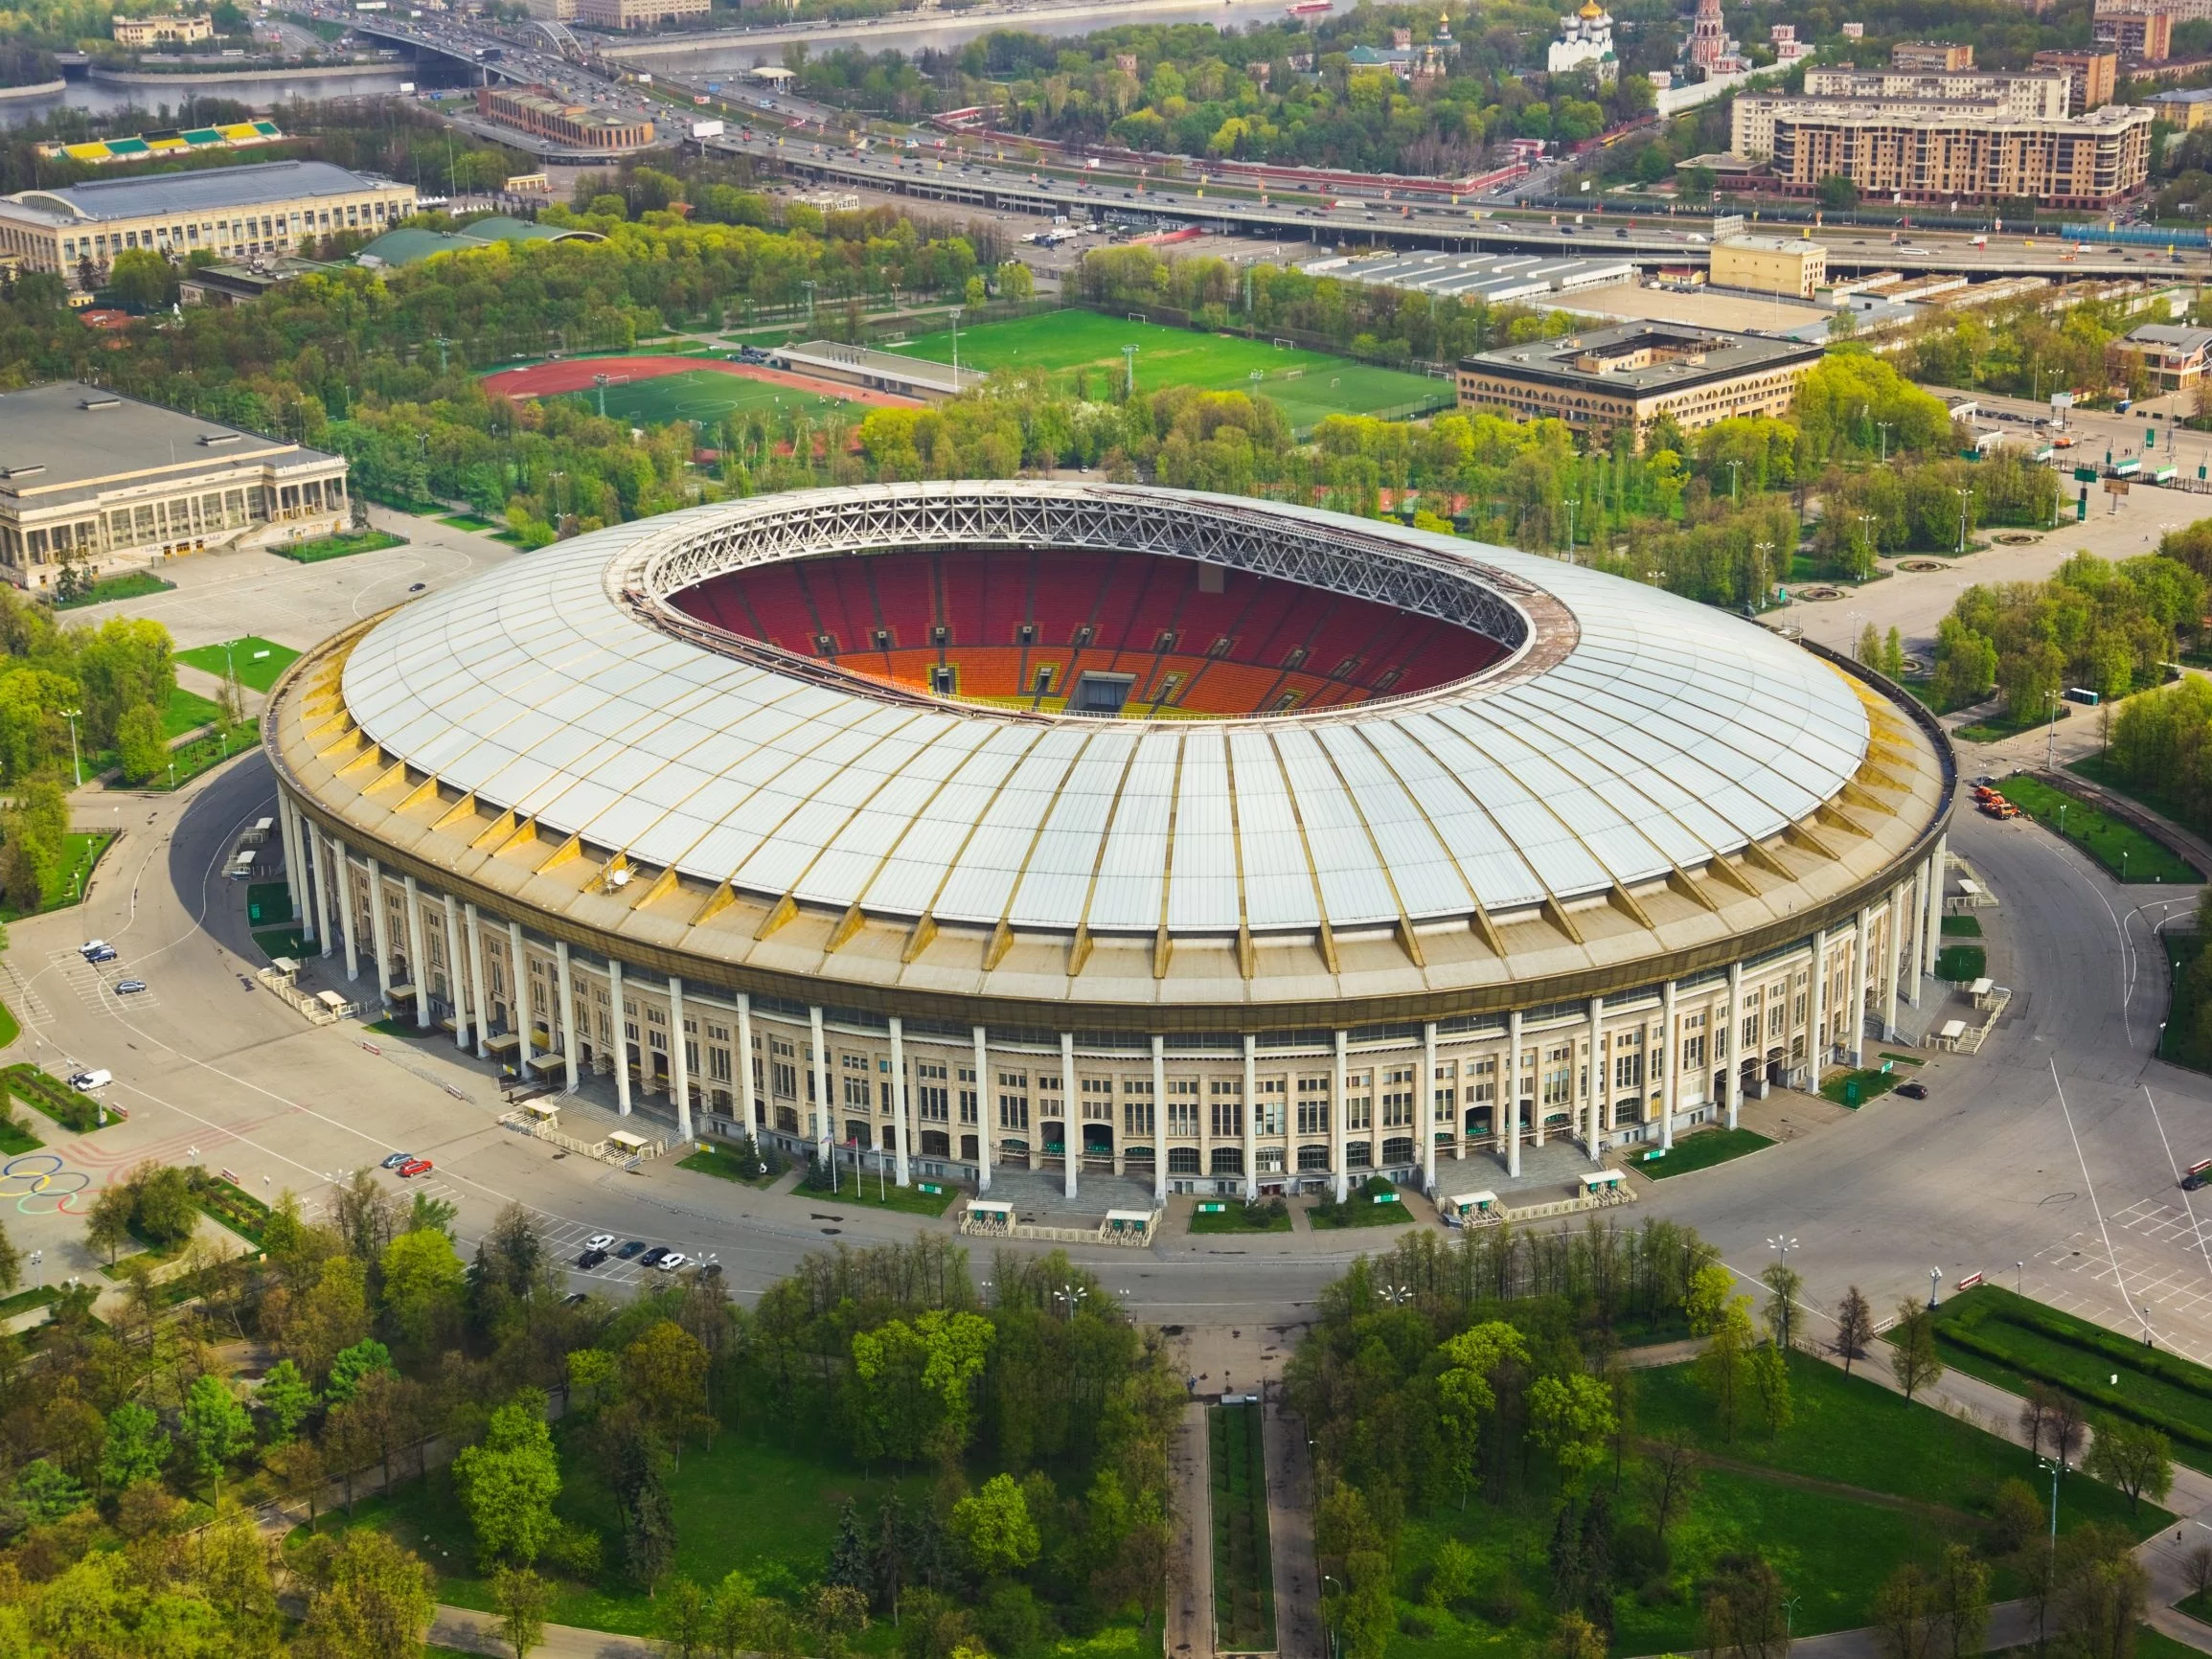
<svg viewBox="0 0 2212 1659">
<path fill-rule="evenodd" d="M 1144 553 L 975 549 L 799 560 L 675 595 L 688 615 L 852 672 L 1057 708 L 1086 670 L 1133 675 L 1130 712 L 1256 714 L 1425 690 L 1498 659 L 1431 617 Z M 1086 633 L 1088 630 L 1088 633 Z M 880 641 L 880 633 L 889 641 Z M 827 644 L 825 644 L 827 639 Z"/>
</svg>

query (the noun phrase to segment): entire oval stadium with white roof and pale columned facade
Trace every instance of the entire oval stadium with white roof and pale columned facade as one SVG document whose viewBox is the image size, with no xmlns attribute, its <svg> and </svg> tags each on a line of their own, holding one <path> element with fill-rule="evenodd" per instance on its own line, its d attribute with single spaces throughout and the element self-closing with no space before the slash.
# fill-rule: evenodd
<svg viewBox="0 0 2212 1659">
<path fill-rule="evenodd" d="M 1086 1208 L 1732 1124 L 1896 1024 L 1955 781 L 1708 606 L 1104 482 L 595 531 L 325 641 L 263 741 L 303 931 L 398 1018 Z"/>
</svg>

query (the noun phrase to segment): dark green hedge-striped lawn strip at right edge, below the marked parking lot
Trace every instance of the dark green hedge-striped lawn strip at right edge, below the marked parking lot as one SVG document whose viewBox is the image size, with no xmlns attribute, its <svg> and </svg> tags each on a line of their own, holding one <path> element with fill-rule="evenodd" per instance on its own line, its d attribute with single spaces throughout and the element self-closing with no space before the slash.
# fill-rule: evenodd
<svg viewBox="0 0 2212 1659">
<path fill-rule="evenodd" d="M 1944 1363 L 2024 1394 L 2028 1383 L 2066 1389 L 2090 1411 L 2150 1422 L 2174 1460 L 2212 1473 L 2212 1369 L 2137 1336 L 2062 1314 L 2002 1285 L 1978 1285 L 1936 1310 Z M 2119 1378 L 2115 1387 L 2110 1378 Z"/>
</svg>

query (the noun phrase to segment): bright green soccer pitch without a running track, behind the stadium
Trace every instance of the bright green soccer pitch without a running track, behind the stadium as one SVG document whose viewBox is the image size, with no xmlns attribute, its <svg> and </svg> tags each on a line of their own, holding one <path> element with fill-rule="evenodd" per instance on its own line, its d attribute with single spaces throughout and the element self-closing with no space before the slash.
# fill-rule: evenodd
<svg viewBox="0 0 2212 1659">
<path fill-rule="evenodd" d="M 1137 392 L 1157 392 L 1170 385 L 1250 392 L 1256 369 L 1261 374 L 1259 394 L 1279 405 L 1290 425 L 1301 429 L 1332 414 L 1380 414 L 1402 411 L 1407 405 L 1447 407 L 1453 403 L 1451 383 L 1425 374 L 1378 369 L 1325 352 L 1276 349 L 1265 338 L 1199 334 L 1077 310 L 964 327 L 960 330 L 960 367 L 1042 367 L 1055 376 L 1091 369 L 1091 394 L 1104 396 L 1121 380 L 1124 345 L 1137 347 Z M 885 349 L 931 363 L 951 363 L 953 336 L 951 332 L 922 334 Z"/>
</svg>

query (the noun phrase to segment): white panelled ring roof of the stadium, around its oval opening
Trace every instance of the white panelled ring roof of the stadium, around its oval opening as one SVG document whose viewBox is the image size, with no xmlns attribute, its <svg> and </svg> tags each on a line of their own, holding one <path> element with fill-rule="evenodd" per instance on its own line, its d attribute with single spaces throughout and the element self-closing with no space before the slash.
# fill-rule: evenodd
<svg viewBox="0 0 2212 1659">
<path fill-rule="evenodd" d="M 1006 526 L 1037 502 L 1400 549 L 1502 597 L 1522 637 L 1411 697 L 1144 721 L 896 695 L 717 650 L 659 606 L 805 555 L 783 526 L 854 500 L 905 529 L 818 551 L 1066 546 Z M 1146 936 L 1420 925 L 1663 880 L 1809 818 L 1871 732 L 1829 664 L 1655 588 L 1294 507 L 1037 482 L 810 491 L 597 531 L 376 624 L 343 701 L 387 757 L 633 865 L 878 918 Z"/>
</svg>

